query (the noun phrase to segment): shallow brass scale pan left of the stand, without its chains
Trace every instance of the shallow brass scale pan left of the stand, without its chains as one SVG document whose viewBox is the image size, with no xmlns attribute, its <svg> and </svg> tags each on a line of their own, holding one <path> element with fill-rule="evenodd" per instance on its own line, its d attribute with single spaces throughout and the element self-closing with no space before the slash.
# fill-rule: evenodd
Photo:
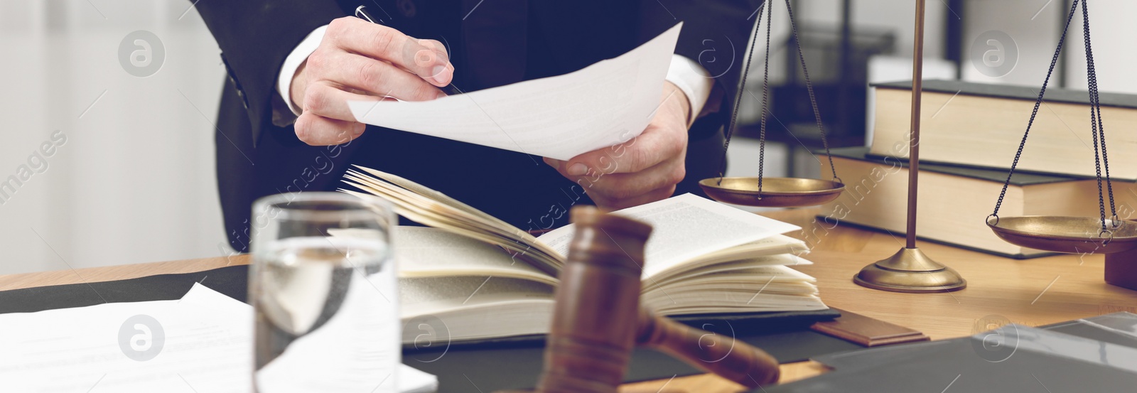
<svg viewBox="0 0 1137 393">
<path fill-rule="evenodd" d="M 719 181 L 722 179 L 722 184 Z M 757 177 L 704 178 L 699 186 L 711 199 L 741 206 L 799 208 L 818 206 L 837 199 L 845 184 L 820 178 L 766 177 L 758 196 Z"/>
</svg>

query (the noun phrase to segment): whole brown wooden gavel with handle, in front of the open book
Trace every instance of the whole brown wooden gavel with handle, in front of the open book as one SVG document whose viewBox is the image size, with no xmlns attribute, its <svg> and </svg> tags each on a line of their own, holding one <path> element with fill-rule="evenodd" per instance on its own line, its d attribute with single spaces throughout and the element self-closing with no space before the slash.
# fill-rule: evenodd
<svg viewBox="0 0 1137 393">
<path fill-rule="evenodd" d="M 749 387 L 778 381 L 778 361 L 762 350 L 640 306 L 649 225 L 594 207 L 573 208 L 571 217 L 575 234 L 556 290 L 538 392 L 616 392 L 633 345 L 663 351 Z"/>
</svg>

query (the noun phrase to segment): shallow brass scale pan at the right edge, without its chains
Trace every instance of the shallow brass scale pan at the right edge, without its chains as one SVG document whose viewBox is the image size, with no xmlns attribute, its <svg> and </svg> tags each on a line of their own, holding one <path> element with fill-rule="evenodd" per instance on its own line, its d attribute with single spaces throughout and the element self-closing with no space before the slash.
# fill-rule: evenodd
<svg viewBox="0 0 1137 393">
<path fill-rule="evenodd" d="M 994 224 L 993 224 L 994 221 Z M 1052 252 L 1113 253 L 1137 248 L 1137 223 L 1121 221 L 1102 233 L 1102 221 L 1095 217 L 1020 216 L 988 218 L 987 226 L 1007 243 Z M 1105 240 L 1109 240 L 1105 242 Z"/>
</svg>

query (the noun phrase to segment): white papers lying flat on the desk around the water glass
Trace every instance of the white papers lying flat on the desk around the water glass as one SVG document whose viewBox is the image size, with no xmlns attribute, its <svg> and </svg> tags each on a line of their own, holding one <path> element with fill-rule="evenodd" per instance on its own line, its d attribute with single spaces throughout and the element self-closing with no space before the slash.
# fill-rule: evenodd
<svg viewBox="0 0 1137 393">
<path fill-rule="evenodd" d="M 160 328 L 144 332 L 130 324 L 127 337 L 139 340 L 124 350 L 122 327 L 140 315 Z M 148 324 L 155 325 L 142 323 Z M 126 356 L 159 342 L 151 359 Z M 400 392 L 438 387 L 433 375 L 408 366 L 399 368 L 396 381 Z M 181 300 L 0 315 L 0 391 L 248 393 L 252 307 L 194 284 Z"/>
</svg>

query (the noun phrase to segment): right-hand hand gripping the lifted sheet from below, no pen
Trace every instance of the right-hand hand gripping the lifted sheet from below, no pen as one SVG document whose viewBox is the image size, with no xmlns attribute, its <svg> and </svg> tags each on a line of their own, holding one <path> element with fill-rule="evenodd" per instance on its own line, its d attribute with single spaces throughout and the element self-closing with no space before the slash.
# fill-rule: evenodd
<svg viewBox="0 0 1137 393">
<path fill-rule="evenodd" d="M 567 161 L 545 158 L 576 182 L 596 206 L 617 210 L 671 196 L 686 175 L 690 101 L 671 82 L 644 133 L 631 141 L 594 150 Z"/>
</svg>

